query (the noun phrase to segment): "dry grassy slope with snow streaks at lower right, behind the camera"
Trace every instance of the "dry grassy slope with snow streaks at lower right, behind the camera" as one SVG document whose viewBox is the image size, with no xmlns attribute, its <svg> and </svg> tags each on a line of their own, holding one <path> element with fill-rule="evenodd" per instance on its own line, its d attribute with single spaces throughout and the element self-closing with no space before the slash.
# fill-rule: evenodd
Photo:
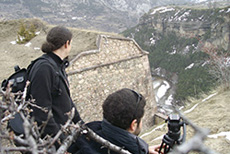
<svg viewBox="0 0 230 154">
<path fill-rule="evenodd" d="M 183 109 L 185 116 L 199 127 L 210 130 L 205 144 L 219 154 L 228 154 L 230 151 L 230 91 L 216 90 L 201 99 L 194 99 L 192 103 Z M 144 131 L 140 136 L 150 145 L 160 144 L 162 135 L 168 128 L 164 122 Z M 194 135 L 194 131 L 187 126 L 188 141 Z"/>
</svg>

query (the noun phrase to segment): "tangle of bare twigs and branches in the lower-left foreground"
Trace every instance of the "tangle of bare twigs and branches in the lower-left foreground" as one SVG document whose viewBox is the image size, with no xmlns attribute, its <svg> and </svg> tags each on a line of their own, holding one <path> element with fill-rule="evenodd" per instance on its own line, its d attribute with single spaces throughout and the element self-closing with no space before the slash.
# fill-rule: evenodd
<svg viewBox="0 0 230 154">
<path fill-rule="evenodd" d="M 28 86 L 28 84 L 27 84 Z M 61 127 L 59 132 L 51 137 L 47 135 L 44 138 L 41 138 L 41 134 L 46 126 L 48 120 L 52 116 L 51 112 L 48 114 L 47 121 L 44 122 L 42 127 L 38 127 L 37 123 L 30 113 L 32 112 L 29 106 L 37 107 L 44 112 L 48 112 L 46 109 L 36 106 L 34 100 L 26 100 L 27 86 L 25 87 L 24 92 L 12 93 L 10 85 L 6 88 L 5 91 L 1 89 L 0 97 L 0 149 L 1 154 L 9 153 L 13 151 L 19 152 L 30 152 L 31 154 L 64 154 L 66 153 L 69 146 L 75 141 L 80 135 L 87 135 L 93 140 L 101 143 L 104 147 L 108 149 L 121 153 L 121 154 L 130 154 L 128 151 L 124 150 L 121 147 L 118 147 L 109 141 L 98 136 L 91 129 L 89 129 L 85 124 L 81 122 L 74 124 L 72 119 L 74 117 L 75 110 L 74 108 L 67 113 L 68 120 Z M 23 135 L 16 135 L 14 132 L 7 130 L 7 122 L 14 118 L 15 114 L 20 114 L 23 120 Z M 5 125 L 5 127 L 3 127 Z M 66 139 L 60 143 L 59 137 L 61 134 L 68 134 Z M 14 146 L 13 144 L 4 145 L 2 144 L 3 140 L 8 140 L 10 143 L 17 143 L 20 146 Z M 55 142 L 60 143 L 60 147 L 56 149 L 54 147 Z"/>
</svg>

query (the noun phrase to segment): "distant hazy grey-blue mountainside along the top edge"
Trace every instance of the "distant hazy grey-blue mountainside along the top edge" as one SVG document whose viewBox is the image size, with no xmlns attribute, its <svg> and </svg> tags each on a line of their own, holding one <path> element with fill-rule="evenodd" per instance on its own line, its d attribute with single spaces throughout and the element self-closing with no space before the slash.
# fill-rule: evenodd
<svg viewBox="0 0 230 154">
<path fill-rule="evenodd" d="M 218 1 L 218 3 L 215 3 Z M 226 6 L 229 0 L 1 0 L 0 20 L 40 18 L 49 24 L 121 32 L 138 23 L 149 9 L 165 5 Z M 212 4 L 213 3 L 213 4 Z"/>
</svg>

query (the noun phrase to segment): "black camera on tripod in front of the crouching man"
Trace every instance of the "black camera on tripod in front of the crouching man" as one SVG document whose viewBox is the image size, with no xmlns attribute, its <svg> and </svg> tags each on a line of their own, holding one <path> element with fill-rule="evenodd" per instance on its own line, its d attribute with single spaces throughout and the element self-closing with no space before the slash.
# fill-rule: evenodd
<svg viewBox="0 0 230 154">
<path fill-rule="evenodd" d="M 186 140 L 186 124 L 178 114 L 170 114 L 166 122 L 168 122 L 168 132 L 162 139 L 159 154 L 162 148 L 164 148 L 164 154 L 167 154 L 174 145 L 180 145 Z M 182 136 L 181 127 L 183 127 Z"/>
</svg>

